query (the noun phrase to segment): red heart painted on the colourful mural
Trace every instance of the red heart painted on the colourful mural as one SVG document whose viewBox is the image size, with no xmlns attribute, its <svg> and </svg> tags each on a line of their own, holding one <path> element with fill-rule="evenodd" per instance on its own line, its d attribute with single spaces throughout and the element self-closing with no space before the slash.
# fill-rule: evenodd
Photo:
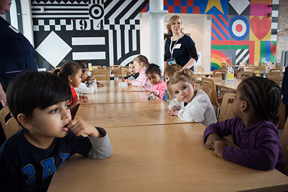
<svg viewBox="0 0 288 192">
<path fill-rule="evenodd" d="M 253 16 L 250 20 L 250 27 L 256 38 L 262 40 L 271 29 L 271 20 L 268 17 L 260 19 L 258 16 Z"/>
</svg>

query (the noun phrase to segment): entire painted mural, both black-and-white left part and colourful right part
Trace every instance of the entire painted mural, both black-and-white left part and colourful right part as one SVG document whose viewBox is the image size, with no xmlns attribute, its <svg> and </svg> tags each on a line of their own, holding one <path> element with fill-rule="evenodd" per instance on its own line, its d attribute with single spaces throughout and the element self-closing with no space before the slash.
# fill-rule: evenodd
<svg viewBox="0 0 288 192">
<path fill-rule="evenodd" d="M 221 62 L 275 62 L 278 0 L 165 0 L 169 13 L 211 14 L 211 69 Z M 127 64 L 140 53 L 148 0 L 32 0 L 36 60 Z"/>
</svg>

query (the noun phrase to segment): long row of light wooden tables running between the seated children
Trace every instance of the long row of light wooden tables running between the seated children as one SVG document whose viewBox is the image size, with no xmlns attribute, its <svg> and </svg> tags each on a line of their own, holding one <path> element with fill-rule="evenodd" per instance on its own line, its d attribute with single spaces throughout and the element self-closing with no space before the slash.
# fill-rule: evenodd
<svg viewBox="0 0 288 192">
<path fill-rule="evenodd" d="M 276 169 L 258 171 L 217 156 L 202 141 L 202 123 L 170 117 L 168 104 L 162 100 L 144 101 L 139 96 L 137 101 L 135 95 L 147 94 L 139 92 L 141 88 L 136 92 L 132 88 L 123 91 L 109 82 L 104 90 L 105 87 L 99 89 L 97 94 L 123 94 L 127 102 L 120 98 L 108 103 L 103 98 L 96 99 L 103 103 L 80 105 L 77 117 L 106 128 L 112 156 L 101 160 L 80 155 L 68 158 L 54 173 L 48 191 L 288 189 L 288 177 Z"/>
</svg>

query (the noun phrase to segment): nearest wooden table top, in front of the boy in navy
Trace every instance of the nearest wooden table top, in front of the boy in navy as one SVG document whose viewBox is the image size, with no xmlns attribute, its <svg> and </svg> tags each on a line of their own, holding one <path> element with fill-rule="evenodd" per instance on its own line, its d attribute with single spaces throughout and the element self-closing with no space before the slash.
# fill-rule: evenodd
<svg viewBox="0 0 288 192">
<path fill-rule="evenodd" d="M 48 191 L 288 189 L 288 177 L 276 169 L 249 169 L 207 149 L 204 129 L 201 123 L 108 128 L 112 156 L 68 158 L 54 173 Z"/>
</svg>

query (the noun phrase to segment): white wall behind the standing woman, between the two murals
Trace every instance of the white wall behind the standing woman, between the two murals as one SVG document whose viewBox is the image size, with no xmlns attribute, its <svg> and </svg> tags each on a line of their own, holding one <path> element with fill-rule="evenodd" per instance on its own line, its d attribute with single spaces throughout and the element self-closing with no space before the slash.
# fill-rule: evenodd
<svg viewBox="0 0 288 192">
<path fill-rule="evenodd" d="M 166 25 L 174 14 L 167 14 L 164 19 L 164 33 L 167 34 Z M 206 14 L 177 14 L 182 19 L 183 32 L 190 34 L 195 42 L 198 52 L 202 53 L 202 67 L 205 71 L 211 69 L 211 20 L 207 20 Z M 161 27 L 161 26 L 159 26 Z M 141 54 L 149 59 L 149 18 L 145 13 L 140 14 L 140 40 Z M 164 35 L 163 35 L 164 38 Z M 165 45 L 163 45 L 164 49 Z M 159 47 L 160 49 L 160 47 Z M 163 56 L 164 59 L 164 56 Z"/>
</svg>

